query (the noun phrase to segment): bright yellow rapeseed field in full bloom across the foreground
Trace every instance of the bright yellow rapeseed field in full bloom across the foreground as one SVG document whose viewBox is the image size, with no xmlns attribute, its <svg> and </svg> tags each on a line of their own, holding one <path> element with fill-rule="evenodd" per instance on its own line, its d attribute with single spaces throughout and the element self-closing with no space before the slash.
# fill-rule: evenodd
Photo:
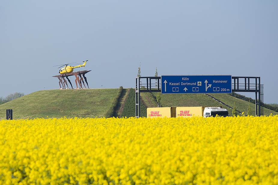
<svg viewBox="0 0 278 185">
<path fill-rule="evenodd" d="M 0 121 L 0 184 L 278 184 L 278 116 Z"/>
</svg>

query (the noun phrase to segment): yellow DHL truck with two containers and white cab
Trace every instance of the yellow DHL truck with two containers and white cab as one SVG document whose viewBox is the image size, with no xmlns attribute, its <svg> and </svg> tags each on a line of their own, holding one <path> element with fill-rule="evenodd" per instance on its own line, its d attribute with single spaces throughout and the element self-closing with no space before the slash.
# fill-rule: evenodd
<svg viewBox="0 0 278 185">
<path fill-rule="evenodd" d="M 148 118 L 167 117 L 167 118 L 191 118 L 192 116 L 215 117 L 229 116 L 227 109 L 213 106 L 199 106 L 199 107 L 153 107 L 147 108 Z"/>
</svg>

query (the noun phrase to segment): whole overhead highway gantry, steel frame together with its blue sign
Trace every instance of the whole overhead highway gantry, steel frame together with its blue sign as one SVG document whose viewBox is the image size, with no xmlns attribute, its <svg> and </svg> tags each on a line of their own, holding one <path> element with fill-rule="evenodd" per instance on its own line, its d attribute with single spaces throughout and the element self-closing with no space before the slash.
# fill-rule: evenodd
<svg viewBox="0 0 278 185">
<path fill-rule="evenodd" d="M 261 77 L 231 75 L 140 76 L 136 78 L 135 90 L 135 116 L 137 118 L 140 117 L 140 92 L 161 92 L 162 94 L 255 92 L 255 115 L 264 114 L 262 107 L 264 85 L 261 84 Z"/>
</svg>

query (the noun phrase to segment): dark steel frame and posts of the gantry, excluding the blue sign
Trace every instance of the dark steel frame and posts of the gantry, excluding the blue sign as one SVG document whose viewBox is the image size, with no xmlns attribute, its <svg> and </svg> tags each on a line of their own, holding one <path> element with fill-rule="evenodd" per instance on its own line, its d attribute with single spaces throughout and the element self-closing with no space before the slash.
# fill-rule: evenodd
<svg viewBox="0 0 278 185">
<path fill-rule="evenodd" d="M 160 76 L 136 78 L 135 116 L 137 118 L 140 117 L 140 92 L 161 92 L 160 79 Z M 232 92 L 255 92 L 255 115 L 264 114 L 262 106 L 264 85 L 261 84 L 261 77 L 232 76 Z"/>
</svg>

